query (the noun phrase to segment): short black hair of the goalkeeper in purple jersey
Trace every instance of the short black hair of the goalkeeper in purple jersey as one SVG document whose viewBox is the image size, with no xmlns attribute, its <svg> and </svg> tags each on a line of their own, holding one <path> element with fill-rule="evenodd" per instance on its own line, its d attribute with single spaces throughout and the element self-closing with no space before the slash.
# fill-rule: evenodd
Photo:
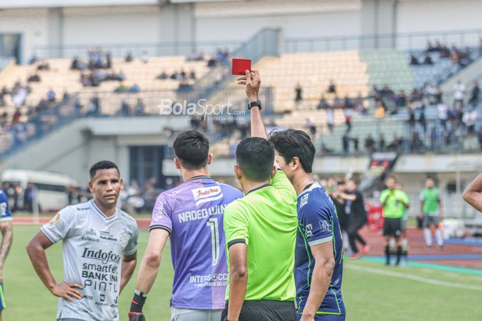
<svg viewBox="0 0 482 321">
<path fill-rule="evenodd" d="M 174 140 L 174 153 L 183 167 L 200 169 L 207 165 L 209 140 L 198 131 L 183 131 Z"/>
</svg>

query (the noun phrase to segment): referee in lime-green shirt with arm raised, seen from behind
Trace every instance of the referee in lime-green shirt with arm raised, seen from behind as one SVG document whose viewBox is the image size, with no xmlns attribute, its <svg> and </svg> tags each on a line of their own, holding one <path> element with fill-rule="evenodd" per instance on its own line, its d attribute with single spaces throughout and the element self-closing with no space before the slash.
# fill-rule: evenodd
<svg viewBox="0 0 482 321">
<path fill-rule="evenodd" d="M 245 196 L 224 210 L 229 284 L 221 320 L 296 321 L 296 192 L 266 139 L 260 83 L 258 71 L 238 78 L 247 84 L 253 137 L 236 148 L 234 171 Z"/>
</svg>

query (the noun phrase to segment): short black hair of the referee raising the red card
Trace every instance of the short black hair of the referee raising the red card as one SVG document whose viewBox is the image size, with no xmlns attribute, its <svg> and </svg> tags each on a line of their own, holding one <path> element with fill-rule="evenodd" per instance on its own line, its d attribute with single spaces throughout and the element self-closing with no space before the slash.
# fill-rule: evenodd
<svg viewBox="0 0 482 321">
<path fill-rule="evenodd" d="M 264 138 L 244 138 L 236 148 L 236 163 L 250 181 L 267 181 L 273 172 L 275 146 Z"/>
</svg>

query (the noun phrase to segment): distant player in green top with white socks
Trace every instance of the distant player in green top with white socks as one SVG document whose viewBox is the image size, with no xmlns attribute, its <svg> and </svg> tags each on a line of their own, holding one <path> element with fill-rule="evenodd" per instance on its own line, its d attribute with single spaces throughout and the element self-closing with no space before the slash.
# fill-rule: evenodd
<svg viewBox="0 0 482 321">
<path fill-rule="evenodd" d="M 432 246 L 432 230 L 439 247 L 443 247 L 442 231 L 440 223 L 443 219 L 443 206 L 439 188 L 435 187 L 432 177 L 427 177 L 425 188 L 420 192 L 420 214 L 423 221 L 423 237 L 427 247 Z"/>
</svg>

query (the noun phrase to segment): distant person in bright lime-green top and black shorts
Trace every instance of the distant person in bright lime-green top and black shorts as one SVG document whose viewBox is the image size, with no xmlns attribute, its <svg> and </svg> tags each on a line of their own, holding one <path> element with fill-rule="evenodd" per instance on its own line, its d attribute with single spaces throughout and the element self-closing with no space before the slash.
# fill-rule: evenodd
<svg viewBox="0 0 482 321">
<path fill-rule="evenodd" d="M 388 176 L 385 181 L 387 189 L 381 192 L 380 202 L 384 215 L 384 236 L 385 236 L 385 256 L 386 265 L 390 265 L 390 238 L 395 237 L 397 242 L 397 265 L 401 258 L 401 221 L 404 219 L 406 208 L 408 208 L 408 197 L 403 190 L 397 190 L 395 185 L 397 180 L 393 176 Z"/>
</svg>

